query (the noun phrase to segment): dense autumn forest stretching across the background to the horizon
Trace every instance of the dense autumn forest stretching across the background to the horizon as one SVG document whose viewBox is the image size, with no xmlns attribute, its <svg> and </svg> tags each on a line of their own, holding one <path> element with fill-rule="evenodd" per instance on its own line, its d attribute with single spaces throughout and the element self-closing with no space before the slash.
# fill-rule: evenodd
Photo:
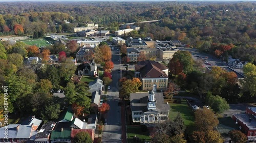
<svg viewBox="0 0 256 143">
<path fill-rule="evenodd" d="M 136 23 L 140 32 L 128 36 L 178 39 L 222 60 L 232 55 L 255 64 L 255 10 L 253 2 L 1 3 L 0 36 L 72 32 L 72 27 L 86 26 L 86 21 L 113 32 L 121 23 L 163 19 Z"/>
</svg>

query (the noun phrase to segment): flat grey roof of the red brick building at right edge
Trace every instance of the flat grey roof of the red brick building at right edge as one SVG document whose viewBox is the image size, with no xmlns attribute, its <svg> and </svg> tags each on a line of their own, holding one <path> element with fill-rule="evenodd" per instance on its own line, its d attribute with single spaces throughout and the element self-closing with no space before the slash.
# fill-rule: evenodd
<svg viewBox="0 0 256 143">
<path fill-rule="evenodd" d="M 246 125 L 249 130 L 256 130 L 256 119 L 255 117 L 245 114 L 245 113 L 238 113 L 234 114 L 234 117 L 236 117 L 239 121 L 241 121 L 244 125 Z M 251 118 L 251 121 L 249 120 Z"/>
</svg>

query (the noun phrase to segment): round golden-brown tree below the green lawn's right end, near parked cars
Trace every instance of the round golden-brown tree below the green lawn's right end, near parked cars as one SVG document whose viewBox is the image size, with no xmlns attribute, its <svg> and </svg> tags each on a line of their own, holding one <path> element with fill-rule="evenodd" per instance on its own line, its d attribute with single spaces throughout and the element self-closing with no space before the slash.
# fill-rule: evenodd
<svg viewBox="0 0 256 143">
<path fill-rule="evenodd" d="M 195 118 L 195 125 L 199 131 L 212 130 L 219 124 L 214 112 L 207 108 L 196 110 Z"/>
</svg>

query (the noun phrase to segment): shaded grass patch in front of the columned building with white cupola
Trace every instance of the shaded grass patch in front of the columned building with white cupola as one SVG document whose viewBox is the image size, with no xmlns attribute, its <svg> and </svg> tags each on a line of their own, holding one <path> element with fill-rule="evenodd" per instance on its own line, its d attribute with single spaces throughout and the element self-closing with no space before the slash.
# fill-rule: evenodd
<svg viewBox="0 0 256 143">
<path fill-rule="evenodd" d="M 146 139 L 146 141 L 150 141 L 150 136 L 148 136 L 148 132 L 142 132 L 140 126 L 127 126 L 127 141 L 128 143 L 136 142 L 133 140 L 134 135 L 139 137 L 139 141 L 137 142 L 143 142 Z"/>
</svg>

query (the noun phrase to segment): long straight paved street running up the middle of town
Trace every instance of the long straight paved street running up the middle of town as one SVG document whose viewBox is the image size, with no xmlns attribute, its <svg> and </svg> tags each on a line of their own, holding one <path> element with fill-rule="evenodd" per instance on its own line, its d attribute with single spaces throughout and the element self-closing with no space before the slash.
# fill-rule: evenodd
<svg viewBox="0 0 256 143">
<path fill-rule="evenodd" d="M 102 132 L 102 142 L 118 142 L 121 143 L 121 106 L 118 104 L 119 99 L 119 87 L 118 80 L 120 78 L 120 62 L 118 61 L 119 54 L 115 49 L 112 51 L 112 61 L 114 63 L 114 69 L 112 70 L 112 83 L 110 84 L 111 90 L 108 91 L 106 97 L 108 98 L 108 103 L 110 104 L 110 110 L 106 116 L 108 125 L 105 125 Z M 125 125 L 125 124 L 124 124 Z"/>
</svg>

